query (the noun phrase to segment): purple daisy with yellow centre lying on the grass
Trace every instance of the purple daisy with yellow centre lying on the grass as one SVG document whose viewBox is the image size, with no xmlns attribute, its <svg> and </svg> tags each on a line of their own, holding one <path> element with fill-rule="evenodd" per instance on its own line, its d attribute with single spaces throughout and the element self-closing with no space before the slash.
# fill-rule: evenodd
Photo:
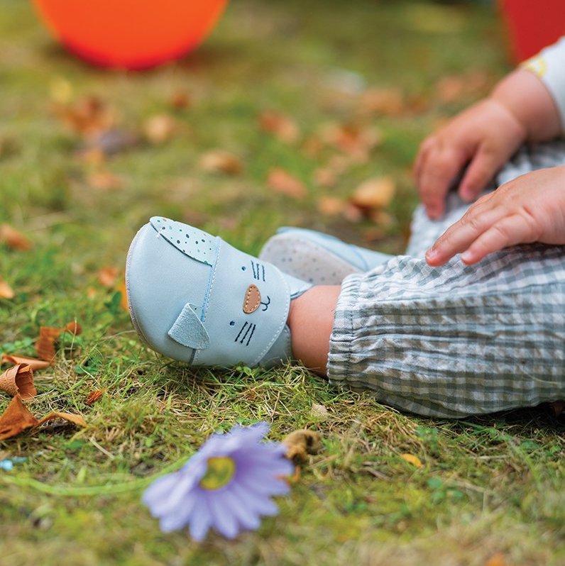
<svg viewBox="0 0 565 566">
<path fill-rule="evenodd" d="M 285 477 L 294 466 L 281 443 L 262 442 L 269 426 L 261 422 L 212 435 L 178 471 L 156 479 L 143 503 L 158 517 L 162 531 L 189 526 L 194 540 L 209 528 L 234 538 L 256 529 L 261 516 L 276 515 L 271 499 L 290 491 Z"/>
</svg>

